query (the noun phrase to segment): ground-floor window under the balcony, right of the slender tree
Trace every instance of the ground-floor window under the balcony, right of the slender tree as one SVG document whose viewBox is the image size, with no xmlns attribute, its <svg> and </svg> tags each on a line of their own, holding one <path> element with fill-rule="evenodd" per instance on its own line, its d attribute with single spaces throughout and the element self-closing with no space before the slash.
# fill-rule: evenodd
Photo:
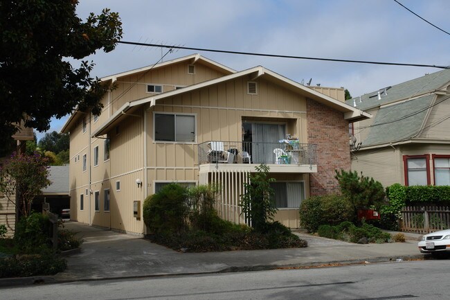
<svg viewBox="0 0 450 300">
<path fill-rule="evenodd" d="M 271 182 L 277 209 L 298 209 L 305 199 L 305 182 Z"/>
</svg>

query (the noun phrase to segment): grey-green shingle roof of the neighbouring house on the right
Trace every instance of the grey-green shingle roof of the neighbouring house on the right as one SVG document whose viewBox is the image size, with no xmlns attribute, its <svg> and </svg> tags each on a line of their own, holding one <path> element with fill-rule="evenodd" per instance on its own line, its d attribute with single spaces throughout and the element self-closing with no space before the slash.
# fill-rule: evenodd
<svg viewBox="0 0 450 300">
<path fill-rule="evenodd" d="M 372 123 L 355 128 L 369 131 L 363 148 L 416 140 L 438 95 L 449 94 L 449 85 L 450 69 L 444 69 L 348 100 L 360 109 L 377 109 Z"/>
</svg>

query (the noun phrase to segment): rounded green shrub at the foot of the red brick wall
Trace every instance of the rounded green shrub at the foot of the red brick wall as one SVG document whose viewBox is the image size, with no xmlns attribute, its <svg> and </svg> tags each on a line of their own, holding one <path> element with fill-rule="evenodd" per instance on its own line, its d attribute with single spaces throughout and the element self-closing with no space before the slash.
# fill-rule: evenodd
<svg viewBox="0 0 450 300">
<path fill-rule="evenodd" d="M 322 224 L 335 225 L 354 220 L 354 208 L 348 197 L 323 195 L 309 197 L 300 204 L 300 227 L 316 232 Z"/>
</svg>

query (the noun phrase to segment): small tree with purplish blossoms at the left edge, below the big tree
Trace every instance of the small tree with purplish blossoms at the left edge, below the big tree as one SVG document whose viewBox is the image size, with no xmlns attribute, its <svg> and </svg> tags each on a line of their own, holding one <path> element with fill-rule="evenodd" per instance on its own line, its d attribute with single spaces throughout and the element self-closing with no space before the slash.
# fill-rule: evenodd
<svg viewBox="0 0 450 300">
<path fill-rule="evenodd" d="M 0 191 L 19 208 L 19 215 L 28 216 L 35 196 L 51 184 L 48 174 L 45 157 L 13 153 L 0 168 Z"/>
</svg>

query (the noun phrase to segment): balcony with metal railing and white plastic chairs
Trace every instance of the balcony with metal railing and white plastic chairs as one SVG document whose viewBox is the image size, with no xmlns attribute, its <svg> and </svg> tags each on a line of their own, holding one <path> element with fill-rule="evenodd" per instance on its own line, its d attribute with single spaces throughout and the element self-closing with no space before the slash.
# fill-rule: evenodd
<svg viewBox="0 0 450 300">
<path fill-rule="evenodd" d="M 316 173 L 316 144 L 282 140 L 278 143 L 207 141 L 198 145 L 201 169 L 248 169 L 267 164 L 271 172 Z"/>
</svg>

